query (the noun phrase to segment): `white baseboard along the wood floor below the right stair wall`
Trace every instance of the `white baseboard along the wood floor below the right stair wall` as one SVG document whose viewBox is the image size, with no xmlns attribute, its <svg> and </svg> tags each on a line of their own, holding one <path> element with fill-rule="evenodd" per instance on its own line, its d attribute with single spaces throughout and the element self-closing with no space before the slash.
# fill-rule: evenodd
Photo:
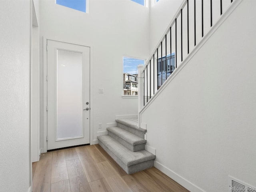
<svg viewBox="0 0 256 192">
<path fill-rule="evenodd" d="M 162 171 L 164 174 L 166 174 L 167 176 L 172 178 L 178 184 L 182 185 L 184 188 L 189 190 L 190 192 L 206 192 L 206 191 L 202 190 L 201 188 L 199 188 L 198 186 L 196 186 L 195 184 L 193 184 L 190 181 L 186 180 L 182 176 L 176 174 L 175 172 L 173 172 L 172 170 L 170 170 L 166 166 L 160 164 L 159 162 L 154 161 L 154 166 L 158 170 Z"/>
</svg>

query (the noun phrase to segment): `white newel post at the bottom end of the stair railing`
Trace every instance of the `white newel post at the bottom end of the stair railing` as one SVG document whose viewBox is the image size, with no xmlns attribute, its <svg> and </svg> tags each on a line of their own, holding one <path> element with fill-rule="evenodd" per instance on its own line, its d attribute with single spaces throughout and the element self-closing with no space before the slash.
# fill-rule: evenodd
<svg viewBox="0 0 256 192">
<path fill-rule="evenodd" d="M 144 84 L 143 84 L 143 75 L 141 74 L 142 69 L 143 69 L 144 65 L 140 64 L 138 65 L 138 123 L 139 123 L 139 127 L 140 127 L 140 110 L 143 107 L 143 91 L 144 91 Z"/>
</svg>

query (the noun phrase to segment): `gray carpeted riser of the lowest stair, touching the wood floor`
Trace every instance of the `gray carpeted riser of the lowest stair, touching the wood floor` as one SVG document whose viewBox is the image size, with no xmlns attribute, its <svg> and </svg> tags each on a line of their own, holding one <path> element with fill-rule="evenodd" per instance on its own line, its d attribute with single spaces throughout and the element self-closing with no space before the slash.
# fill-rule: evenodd
<svg viewBox="0 0 256 192">
<path fill-rule="evenodd" d="M 99 140 L 99 145 L 117 162 L 117 164 L 122 167 L 122 169 L 127 173 L 127 174 L 132 174 L 138 171 L 145 170 L 147 168 L 153 167 L 154 166 L 154 160 L 148 160 L 146 162 L 138 163 L 132 166 L 126 166 L 120 159 L 108 149 L 100 140 Z"/>
</svg>

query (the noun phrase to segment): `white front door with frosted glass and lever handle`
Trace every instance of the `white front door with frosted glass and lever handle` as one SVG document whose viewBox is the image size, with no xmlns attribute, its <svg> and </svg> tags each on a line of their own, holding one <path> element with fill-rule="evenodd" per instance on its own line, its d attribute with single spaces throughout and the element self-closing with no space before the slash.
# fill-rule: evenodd
<svg viewBox="0 0 256 192">
<path fill-rule="evenodd" d="M 47 150 L 90 143 L 90 47 L 47 40 Z"/>
</svg>

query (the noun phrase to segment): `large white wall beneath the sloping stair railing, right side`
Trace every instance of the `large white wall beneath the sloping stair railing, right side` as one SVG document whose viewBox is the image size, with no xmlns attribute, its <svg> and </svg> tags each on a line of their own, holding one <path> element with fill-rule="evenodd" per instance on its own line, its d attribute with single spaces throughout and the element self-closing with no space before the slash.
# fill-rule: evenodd
<svg viewBox="0 0 256 192">
<path fill-rule="evenodd" d="M 242 1 L 142 113 L 156 165 L 192 192 L 228 191 L 228 175 L 256 186 L 255 7 Z"/>
</svg>

